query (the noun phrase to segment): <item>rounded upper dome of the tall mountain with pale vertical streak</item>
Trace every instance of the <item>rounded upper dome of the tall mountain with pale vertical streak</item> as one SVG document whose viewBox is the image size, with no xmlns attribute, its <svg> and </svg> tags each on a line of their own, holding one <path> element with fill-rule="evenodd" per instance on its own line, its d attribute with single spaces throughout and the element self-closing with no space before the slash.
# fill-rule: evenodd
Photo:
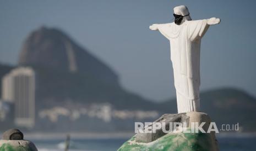
<svg viewBox="0 0 256 151">
<path fill-rule="evenodd" d="M 19 65 L 83 72 L 111 84 L 118 83 L 118 76 L 110 67 L 57 28 L 41 27 L 30 33 L 21 49 Z"/>
</svg>

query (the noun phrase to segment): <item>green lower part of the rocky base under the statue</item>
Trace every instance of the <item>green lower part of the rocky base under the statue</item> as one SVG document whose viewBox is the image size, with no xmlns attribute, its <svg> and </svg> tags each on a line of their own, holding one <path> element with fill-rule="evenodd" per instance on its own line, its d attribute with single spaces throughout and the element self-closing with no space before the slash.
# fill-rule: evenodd
<svg viewBox="0 0 256 151">
<path fill-rule="evenodd" d="M 135 136 L 125 142 L 118 151 L 125 150 L 216 150 L 210 133 L 168 133 L 150 143 L 135 142 Z"/>
</svg>

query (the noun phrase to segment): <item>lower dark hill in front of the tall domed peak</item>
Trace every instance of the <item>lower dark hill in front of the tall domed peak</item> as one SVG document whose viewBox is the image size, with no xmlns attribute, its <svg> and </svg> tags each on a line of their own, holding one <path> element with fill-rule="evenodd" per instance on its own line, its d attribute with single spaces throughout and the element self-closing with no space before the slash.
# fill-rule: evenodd
<svg viewBox="0 0 256 151">
<path fill-rule="evenodd" d="M 109 102 L 118 109 L 154 109 L 154 104 L 129 93 L 119 85 L 102 82 L 84 73 L 70 73 L 46 68 L 35 68 L 37 75 L 37 106 L 52 107 L 65 102 Z M 72 106 L 72 104 L 70 104 Z"/>
</svg>

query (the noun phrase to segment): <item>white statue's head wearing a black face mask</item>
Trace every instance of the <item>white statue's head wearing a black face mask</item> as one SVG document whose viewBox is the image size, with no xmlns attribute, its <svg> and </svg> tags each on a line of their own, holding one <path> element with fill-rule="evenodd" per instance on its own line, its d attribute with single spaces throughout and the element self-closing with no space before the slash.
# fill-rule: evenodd
<svg viewBox="0 0 256 151">
<path fill-rule="evenodd" d="M 188 8 L 185 5 L 179 5 L 173 8 L 173 12 L 173 16 L 175 16 L 175 24 L 177 25 L 181 25 L 185 20 L 192 20 Z"/>
</svg>

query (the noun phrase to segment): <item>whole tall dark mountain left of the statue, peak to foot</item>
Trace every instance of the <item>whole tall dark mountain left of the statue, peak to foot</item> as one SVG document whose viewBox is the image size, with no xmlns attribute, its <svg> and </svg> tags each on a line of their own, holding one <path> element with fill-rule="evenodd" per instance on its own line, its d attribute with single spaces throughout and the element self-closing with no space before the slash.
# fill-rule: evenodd
<svg viewBox="0 0 256 151">
<path fill-rule="evenodd" d="M 21 49 L 18 66 L 31 66 L 36 71 L 38 109 L 105 102 L 126 109 L 145 103 L 154 106 L 124 90 L 110 67 L 57 28 L 41 27 L 31 32 Z"/>
</svg>

